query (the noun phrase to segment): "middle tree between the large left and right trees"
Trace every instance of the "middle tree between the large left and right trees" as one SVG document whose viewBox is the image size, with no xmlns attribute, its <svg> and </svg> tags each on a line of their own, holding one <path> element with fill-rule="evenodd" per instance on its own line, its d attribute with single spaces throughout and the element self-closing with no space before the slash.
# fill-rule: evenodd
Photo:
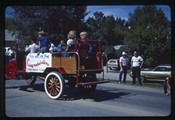
<svg viewBox="0 0 175 120">
<path fill-rule="evenodd" d="M 101 39 L 102 51 L 106 54 L 114 54 L 113 46 L 119 43 L 116 29 L 116 25 L 118 25 L 117 20 L 113 16 L 104 16 L 102 12 L 95 12 L 94 17 L 88 18 L 86 21 L 90 39 Z"/>
</svg>

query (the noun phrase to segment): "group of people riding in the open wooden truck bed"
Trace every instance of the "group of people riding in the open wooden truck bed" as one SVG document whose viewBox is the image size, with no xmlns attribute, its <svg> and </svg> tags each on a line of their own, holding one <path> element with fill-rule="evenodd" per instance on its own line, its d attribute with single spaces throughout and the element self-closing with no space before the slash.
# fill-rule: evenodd
<svg viewBox="0 0 175 120">
<path fill-rule="evenodd" d="M 30 53 L 44 53 L 44 52 L 79 52 L 80 56 L 86 56 L 87 52 L 91 52 L 92 47 L 87 41 L 87 32 L 80 33 L 80 40 L 77 41 L 76 31 L 71 30 L 67 35 L 67 42 L 64 43 L 64 40 L 61 40 L 60 43 L 56 46 L 52 41 L 49 43 L 49 38 L 44 31 L 38 32 L 38 39 L 31 38 L 31 45 L 26 46 L 25 52 Z M 75 51 L 77 48 L 77 51 Z M 66 53 L 62 56 L 72 56 L 72 53 Z"/>
</svg>

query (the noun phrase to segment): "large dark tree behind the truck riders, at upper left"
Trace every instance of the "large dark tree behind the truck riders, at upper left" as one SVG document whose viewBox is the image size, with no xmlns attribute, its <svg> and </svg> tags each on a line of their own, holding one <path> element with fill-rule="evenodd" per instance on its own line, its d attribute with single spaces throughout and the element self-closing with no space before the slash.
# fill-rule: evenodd
<svg viewBox="0 0 175 120">
<path fill-rule="evenodd" d="M 10 26 L 17 32 L 21 46 L 29 43 L 31 36 L 44 30 L 49 35 L 58 35 L 67 39 L 71 29 L 80 31 L 84 27 L 86 6 L 12 6 L 14 9 L 13 23 Z M 9 22 L 8 22 L 9 23 Z M 7 23 L 7 24 L 8 24 Z"/>
</svg>

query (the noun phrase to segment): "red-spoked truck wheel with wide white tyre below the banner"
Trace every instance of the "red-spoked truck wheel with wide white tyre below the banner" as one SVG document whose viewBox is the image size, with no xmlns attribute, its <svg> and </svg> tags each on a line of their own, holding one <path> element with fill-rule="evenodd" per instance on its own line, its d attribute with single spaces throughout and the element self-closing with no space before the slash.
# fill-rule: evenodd
<svg viewBox="0 0 175 120">
<path fill-rule="evenodd" d="M 51 99 L 58 99 L 62 97 L 64 86 L 64 78 L 58 72 L 50 72 L 45 78 L 44 89 Z"/>
</svg>

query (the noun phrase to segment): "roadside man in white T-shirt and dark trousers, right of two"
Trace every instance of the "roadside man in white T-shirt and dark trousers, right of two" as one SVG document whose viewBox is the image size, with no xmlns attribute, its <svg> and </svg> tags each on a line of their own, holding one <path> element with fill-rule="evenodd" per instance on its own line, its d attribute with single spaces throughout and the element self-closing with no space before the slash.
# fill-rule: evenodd
<svg viewBox="0 0 175 120">
<path fill-rule="evenodd" d="M 142 85 L 142 81 L 140 79 L 140 69 L 143 65 L 143 58 L 138 56 L 137 51 L 134 51 L 134 56 L 131 59 L 131 68 L 132 68 L 132 76 L 133 76 L 133 84 L 136 83 L 136 77 L 138 77 L 139 84 Z"/>
</svg>

